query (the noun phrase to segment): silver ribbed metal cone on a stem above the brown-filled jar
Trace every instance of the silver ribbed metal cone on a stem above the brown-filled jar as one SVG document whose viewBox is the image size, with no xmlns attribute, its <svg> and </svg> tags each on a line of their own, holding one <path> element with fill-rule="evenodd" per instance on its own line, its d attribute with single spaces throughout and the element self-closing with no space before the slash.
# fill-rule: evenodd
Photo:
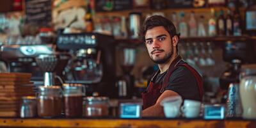
<svg viewBox="0 0 256 128">
<path fill-rule="evenodd" d="M 66 67 L 69 57 L 68 54 L 40 54 L 35 58 L 36 63 L 44 72 L 44 86 L 55 84 L 55 72 L 62 71 Z"/>
</svg>

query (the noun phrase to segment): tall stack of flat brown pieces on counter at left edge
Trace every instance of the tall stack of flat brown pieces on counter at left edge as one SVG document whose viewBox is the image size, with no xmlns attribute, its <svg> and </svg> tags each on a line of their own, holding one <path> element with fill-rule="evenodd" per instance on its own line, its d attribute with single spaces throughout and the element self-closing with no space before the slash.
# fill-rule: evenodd
<svg viewBox="0 0 256 128">
<path fill-rule="evenodd" d="M 19 116 L 21 99 L 35 96 L 31 74 L 0 73 L 0 117 Z"/>
</svg>

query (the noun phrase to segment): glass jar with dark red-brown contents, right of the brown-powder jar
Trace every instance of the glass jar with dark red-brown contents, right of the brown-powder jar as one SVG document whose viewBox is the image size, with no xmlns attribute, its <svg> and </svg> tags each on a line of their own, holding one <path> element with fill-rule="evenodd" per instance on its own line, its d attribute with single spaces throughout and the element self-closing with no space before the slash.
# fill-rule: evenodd
<svg viewBox="0 0 256 128">
<path fill-rule="evenodd" d="M 85 86 L 82 84 L 63 84 L 66 117 L 81 117 L 83 115 L 84 94 Z"/>
</svg>

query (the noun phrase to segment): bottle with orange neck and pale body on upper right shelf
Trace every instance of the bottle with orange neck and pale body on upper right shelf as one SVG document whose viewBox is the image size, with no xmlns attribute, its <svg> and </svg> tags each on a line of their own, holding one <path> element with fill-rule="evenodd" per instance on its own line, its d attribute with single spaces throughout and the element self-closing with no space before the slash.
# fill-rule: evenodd
<svg viewBox="0 0 256 128">
<path fill-rule="evenodd" d="M 208 21 L 208 34 L 209 36 L 216 36 L 216 18 L 214 9 L 211 9 L 211 18 Z"/>
</svg>

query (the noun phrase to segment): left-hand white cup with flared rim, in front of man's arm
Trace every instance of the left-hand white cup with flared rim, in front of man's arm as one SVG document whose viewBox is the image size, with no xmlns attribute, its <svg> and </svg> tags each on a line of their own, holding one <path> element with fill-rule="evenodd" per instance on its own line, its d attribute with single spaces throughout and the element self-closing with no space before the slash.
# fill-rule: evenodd
<svg viewBox="0 0 256 128">
<path fill-rule="evenodd" d="M 175 118 L 180 115 L 182 98 L 180 96 L 166 97 L 162 100 L 161 106 L 164 109 L 166 118 Z"/>
</svg>

